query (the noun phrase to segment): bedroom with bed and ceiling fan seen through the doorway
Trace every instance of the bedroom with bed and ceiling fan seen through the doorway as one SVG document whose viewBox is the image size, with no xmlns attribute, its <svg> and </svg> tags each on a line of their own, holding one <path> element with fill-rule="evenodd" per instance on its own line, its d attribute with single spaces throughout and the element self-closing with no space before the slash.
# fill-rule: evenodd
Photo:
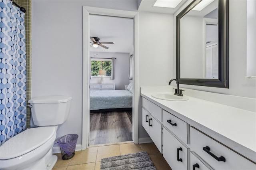
<svg viewBox="0 0 256 170">
<path fill-rule="evenodd" d="M 133 24 L 90 14 L 89 145 L 133 141 Z"/>
</svg>

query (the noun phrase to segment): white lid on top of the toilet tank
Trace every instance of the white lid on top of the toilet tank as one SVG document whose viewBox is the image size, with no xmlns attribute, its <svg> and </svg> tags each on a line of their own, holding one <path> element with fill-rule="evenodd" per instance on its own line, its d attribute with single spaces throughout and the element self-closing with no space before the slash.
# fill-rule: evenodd
<svg viewBox="0 0 256 170">
<path fill-rule="evenodd" d="M 28 103 L 64 103 L 71 99 L 70 96 L 40 96 L 30 99 Z"/>
</svg>

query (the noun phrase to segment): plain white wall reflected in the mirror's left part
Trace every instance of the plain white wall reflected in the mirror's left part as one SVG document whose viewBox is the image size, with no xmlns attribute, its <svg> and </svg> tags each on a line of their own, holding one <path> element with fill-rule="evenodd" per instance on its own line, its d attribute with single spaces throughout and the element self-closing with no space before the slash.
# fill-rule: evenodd
<svg viewBox="0 0 256 170">
<path fill-rule="evenodd" d="M 188 25 L 190 25 L 188 27 Z M 204 18 L 184 16 L 180 20 L 180 77 L 202 79 L 204 73 Z M 188 38 L 189 37 L 189 38 Z"/>
</svg>

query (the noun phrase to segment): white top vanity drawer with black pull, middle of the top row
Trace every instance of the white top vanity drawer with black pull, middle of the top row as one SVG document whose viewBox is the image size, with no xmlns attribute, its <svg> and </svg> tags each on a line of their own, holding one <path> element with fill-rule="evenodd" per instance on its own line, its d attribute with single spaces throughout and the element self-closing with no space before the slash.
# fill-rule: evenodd
<svg viewBox="0 0 256 170">
<path fill-rule="evenodd" d="M 163 124 L 171 132 L 173 132 L 183 142 L 188 143 L 187 123 L 172 115 L 167 111 L 163 111 Z"/>
</svg>

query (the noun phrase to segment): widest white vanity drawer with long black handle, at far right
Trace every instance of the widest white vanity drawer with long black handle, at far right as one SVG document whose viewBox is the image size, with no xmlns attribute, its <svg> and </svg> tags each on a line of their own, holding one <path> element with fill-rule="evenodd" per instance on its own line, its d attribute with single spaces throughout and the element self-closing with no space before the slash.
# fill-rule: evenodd
<svg viewBox="0 0 256 170">
<path fill-rule="evenodd" d="M 215 170 L 255 170 L 256 164 L 206 136 L 190 128 L 191 150 L 196 152 Z"/>
</svg>

